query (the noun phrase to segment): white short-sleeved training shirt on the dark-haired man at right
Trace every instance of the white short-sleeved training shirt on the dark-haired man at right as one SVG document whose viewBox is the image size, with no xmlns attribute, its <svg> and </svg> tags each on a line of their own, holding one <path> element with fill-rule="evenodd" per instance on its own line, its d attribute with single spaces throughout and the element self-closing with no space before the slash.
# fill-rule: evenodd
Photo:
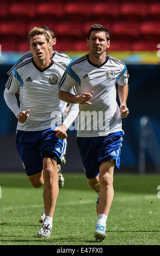
<svg viewBox="0 0 160 256">
<path fill-rule="evenodd" d="M 77 95 L 94 92 L 91 105 L 79 104 L 78 137 L 106 136 L 122 130 L 116 83 L 126 86 L 128 72 L 126 65 L 113 57 L 106 56 L 106 62 L 97 66 L 87 54 L 67 66 L 60 90 L 70 92 L 75 86 Z"/>
</svg>

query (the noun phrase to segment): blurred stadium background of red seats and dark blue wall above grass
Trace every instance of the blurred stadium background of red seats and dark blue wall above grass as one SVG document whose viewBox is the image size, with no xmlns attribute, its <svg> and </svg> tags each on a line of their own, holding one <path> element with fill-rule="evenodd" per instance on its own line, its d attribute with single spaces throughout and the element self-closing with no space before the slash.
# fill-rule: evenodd
<svg viewBox="0 0 160 256">
<path fill-rule="evenodd" d="M 142 1 L 1 1 L 0 8 L 0 172 L 24 172 L 15 147 L 17 119 L 3 99 L 7 71 L 29 50 L 27 35 L 34 26 L 50 27 L 57 38 L 54 50 L 73 60 L 87 53 L 90 26 L 100 23 L 110 32 L 108 54 L 127 65 L 128 118 L 121 148 L 119 173 L 160 171 L 160 2 Z M 158 51 L 159 50 L 159 51 Z M 75 142 L 68 132 L 65 172 L 83 172 Z"/>
</svg>

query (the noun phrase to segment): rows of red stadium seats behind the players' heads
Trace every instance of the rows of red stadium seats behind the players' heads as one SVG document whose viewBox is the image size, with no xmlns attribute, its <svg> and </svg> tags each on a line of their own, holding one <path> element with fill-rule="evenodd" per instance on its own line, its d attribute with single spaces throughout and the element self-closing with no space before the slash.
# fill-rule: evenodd
<svg viewBox="0 0 160 256">
<path fill-rule="evenodd" d="M 9 0 L 1 3 L 0 40 L 3 41 L 3 50 L 8 49 L 8 40 L 12 35 L 10 51 L 27 51 L 27 33 L 34 26 L 46 25 L 53 29 L 58 41 L 62 40 L 56 45 L 56 50 L 60 50 L 61 46 L 63 51 L 85 51 L 87 48 L 83 42 L 88 29 L 93 23 L 101 23 L 110 31 L 112 49 L 141 51 L 144 47 L 145 50 L 156 51 L 159 22 L 159 1 Z M 21 44 L 16 44 L 17 36 Z"/>
</svg>

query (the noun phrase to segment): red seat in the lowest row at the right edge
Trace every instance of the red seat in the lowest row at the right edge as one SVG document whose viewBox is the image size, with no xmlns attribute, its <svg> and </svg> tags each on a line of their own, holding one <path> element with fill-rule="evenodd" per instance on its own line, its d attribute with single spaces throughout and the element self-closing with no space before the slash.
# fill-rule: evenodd
<svg viewBox="0 0 160 256">
<path fill-rule="evenodd" d="M 157 42 L 155 41 L 137 41 L 132 44 L 133 51 L 157 51 Z"/>
</svg>

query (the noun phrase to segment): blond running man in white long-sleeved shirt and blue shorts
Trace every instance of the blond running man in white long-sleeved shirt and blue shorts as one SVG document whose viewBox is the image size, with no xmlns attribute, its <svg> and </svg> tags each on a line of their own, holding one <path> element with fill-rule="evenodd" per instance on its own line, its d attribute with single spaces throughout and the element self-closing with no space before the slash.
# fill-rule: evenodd
<svg viewBox="0 0 160 256">
<path fill-rule="evenodd" d="M 57 164 L 63 157 L 66 131 L 78 114 L 78 105 L 71 105 L 62 123 L 58 84 L 65 68 L 50 59 L 51 42 L 44 28 L 34 27 L 28 39 L 33 58 L 13 69 L 4 99 L 18 119 L 16 146 L 26 174 L 34 187 L 44 184 L 46 215 L 37 236 L 50 237 L 59 192 Z"/>
</svg>

